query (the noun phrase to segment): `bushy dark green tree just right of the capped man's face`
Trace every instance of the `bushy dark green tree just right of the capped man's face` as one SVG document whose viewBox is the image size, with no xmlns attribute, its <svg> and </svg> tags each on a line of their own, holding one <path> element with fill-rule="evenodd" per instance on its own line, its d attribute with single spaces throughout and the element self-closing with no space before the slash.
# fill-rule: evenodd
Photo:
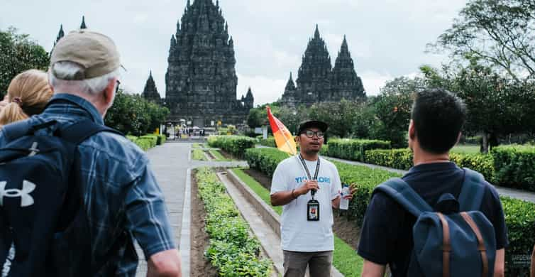
<svg viewBox="0 0 535 277">
<path fill-rule="evenodd" d="M 106 113 L 105 121 L 107 126 L 118 129 L 123 134 L 142 136 L 160 128 L 169 114 L 166 107 L 119 89 L 114 104 Z"/>
</svg>

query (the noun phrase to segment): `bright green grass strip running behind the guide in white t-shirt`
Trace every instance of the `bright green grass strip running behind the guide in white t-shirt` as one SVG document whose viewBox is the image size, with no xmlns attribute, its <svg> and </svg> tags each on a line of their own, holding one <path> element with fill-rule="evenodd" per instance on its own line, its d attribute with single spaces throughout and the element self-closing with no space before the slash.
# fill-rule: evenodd
<svg viewBox="0 0 535 277">
<path fill-rule="evenodd" d="M 231 169 L 233 173 L 238 175 L 243 183 L 246 183 L 251 190 L 253 190 L 267 205 L 277 212 L 277 214 L 282 213 L 282 207 L 277 206 L 273 207 L 270 203 L 270 192 L 260 185 L 254 178 L 250 177 L 248 174 L 244 173 L 243 170 L 236 168 Z M 363 259 L 357 255 L 355 250 L 351 248 L 346 242 L 342 239 L 334 236 L 334 253 L 333 253 L 333 265 L 340 271 L 344 276 L 348 277 L 357 277 L 360 276 L 363 267 Z"/>
</svg>

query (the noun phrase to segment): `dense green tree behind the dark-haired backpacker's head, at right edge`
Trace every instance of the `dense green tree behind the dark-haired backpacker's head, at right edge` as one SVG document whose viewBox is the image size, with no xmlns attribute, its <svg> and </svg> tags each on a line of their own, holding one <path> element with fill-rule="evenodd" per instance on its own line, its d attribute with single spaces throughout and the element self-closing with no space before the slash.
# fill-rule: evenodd
<svg viewBox="0 0 535 277">
<path fill-rule="evenodd" d="M 514 80 L 493 72 L 476 58 L 468 66 L 422 67 L 427 82 L 456 92 L 468 108 L 464 131 L 482 136 L 481 151 L 487 153 L 499 139 L 534 130 L 533 82 Z"/>
</svg>

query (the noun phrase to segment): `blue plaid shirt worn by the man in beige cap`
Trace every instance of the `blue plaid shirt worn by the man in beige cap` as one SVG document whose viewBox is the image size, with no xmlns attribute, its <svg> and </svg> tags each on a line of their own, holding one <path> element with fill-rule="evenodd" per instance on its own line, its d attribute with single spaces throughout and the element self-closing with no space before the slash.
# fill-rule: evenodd
<svg viewBox="0 0 535 277">
<path fill-rule="evenodd" d="M 63 125 L 92 119 L 104 124 L 95 107 L 80 97 L 55 94 L 53 99 L 63 101 L 53 102 L 29 120 L 55 119 Z M 8 142 L 1 129 L 0 146 Z M 115 276 L 135 276 L 138 256 L 133 239 L 147 258 L 176 248 L 162 192 L 147 156 L 136 144 L 118 134 L 100 132 L 80 143 L 78 153 L 82 179 L 78 181 L 92 234 L 92 266 L 95 260 L 117 261 Z M 109 253 L 123 232 L 128 234 L 128 243 L 117 253 Z"/>
</svg>

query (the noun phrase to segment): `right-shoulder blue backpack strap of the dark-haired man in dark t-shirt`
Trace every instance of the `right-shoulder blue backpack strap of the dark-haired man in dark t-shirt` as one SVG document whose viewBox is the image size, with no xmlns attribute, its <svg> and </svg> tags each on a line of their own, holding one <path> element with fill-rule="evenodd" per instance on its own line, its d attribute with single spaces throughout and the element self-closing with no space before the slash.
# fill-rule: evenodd
<svg viewBox="0 0 535 277">
<path fill-rule="evenodd" d="M 481 173 L 470 168 L 463 168 L 463 170 L 465 170 L 465 178 L 459 194 L 460 211 L 479 210 L 483 194 L 485 194 L 485 178 Z"/>
</svg>

